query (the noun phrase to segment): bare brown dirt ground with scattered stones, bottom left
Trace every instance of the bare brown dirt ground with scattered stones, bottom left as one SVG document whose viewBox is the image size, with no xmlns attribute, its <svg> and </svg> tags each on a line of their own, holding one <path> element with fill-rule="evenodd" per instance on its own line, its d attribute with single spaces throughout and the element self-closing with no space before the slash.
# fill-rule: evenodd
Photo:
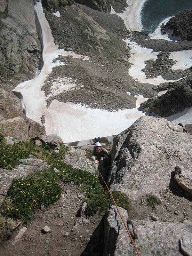
<svg viewBox="0 0 192 256">
<path fill-rule="evenodd" d="M 78 194 L 82 195 L 79 187 L 73 184 L 64 184 L 60 200 L 47 209 L 36 212 L 34 219 L 28 221 L 27 231 L 21 240 L 13 245 L 22 226 L 16 229 L 9 240 L 0 244 L 0 255 L 94 255 L 94 253 L 86 254 L 89 253 L 88 243 L 102 216 L 99 214 L 92 216 L 88 218 L 90 220 L 89 224 L 81 224 L 80 228 L 72 230 L 77 220 L 76 214 L 82 205 L 83 195 L 78 198 Z M 47 234 L 41 232 L 45 225 L 51 228 L 51 231 Z M 65 236 L 66 232 L 69 233 L 68 236 Z M 96 241 L 96 239 L 94 240 Z M 94 248 L 94 251 L 102 250 L 100 242 L 96 243 Z M 84 250 L 88 250 L 88 252 L 85 253 Z"/>
</svg>

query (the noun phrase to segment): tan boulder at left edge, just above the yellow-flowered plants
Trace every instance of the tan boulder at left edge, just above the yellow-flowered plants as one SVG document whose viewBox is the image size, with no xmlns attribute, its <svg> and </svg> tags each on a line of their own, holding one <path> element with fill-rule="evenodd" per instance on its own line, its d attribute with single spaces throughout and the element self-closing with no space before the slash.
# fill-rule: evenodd
<svg viewBox="0 0 192 256">
<path fill-rule="evenodd" d="M 18 140 L 29 140 L 28 125 L 21 116 L 0 122 L 0 133 L 3 136 L 10 136 Z"/>
</svg>

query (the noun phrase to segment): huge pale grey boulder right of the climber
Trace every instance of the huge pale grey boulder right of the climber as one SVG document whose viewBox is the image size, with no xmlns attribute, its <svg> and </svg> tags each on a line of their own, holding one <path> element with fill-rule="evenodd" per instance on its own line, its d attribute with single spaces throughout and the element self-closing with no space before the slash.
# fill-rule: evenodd
<svg viewBox="0 0 192 256">
<path fill-rule="evenodd" d="M 116 136 L 108 184 L 131 202 L 160 195 L 170 184 L 175 166 L 192 172 L 191 135 L 164 118 L 140 117 Z M 157 183 L 158 180 L 158 183 Z"/>
</svg>

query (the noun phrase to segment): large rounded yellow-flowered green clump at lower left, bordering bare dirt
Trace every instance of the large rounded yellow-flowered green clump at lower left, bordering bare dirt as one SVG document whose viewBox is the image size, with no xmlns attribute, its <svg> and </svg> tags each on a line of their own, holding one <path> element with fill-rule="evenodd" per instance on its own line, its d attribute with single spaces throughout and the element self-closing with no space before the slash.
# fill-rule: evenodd
<svg viewBox="0 0 192 256">
<path fill-rule="evenodd" d="M 53 204 L 60 198 L 60 194 L 60 175 L 51 170 L 32 173 L 27 179 L 12 181 L 1 206 L 1 213 L 14 220 L 27 221 L 33 217 L 35 208 L 41 204 Z"/>
</svg>

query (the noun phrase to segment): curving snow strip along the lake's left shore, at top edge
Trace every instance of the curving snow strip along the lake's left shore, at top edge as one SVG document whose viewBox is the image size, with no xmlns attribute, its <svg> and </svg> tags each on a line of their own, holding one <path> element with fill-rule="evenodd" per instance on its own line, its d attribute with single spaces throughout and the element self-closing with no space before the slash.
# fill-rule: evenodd
<svg viewBox="0 0 192 256">
<path fill-rule="evenodd" d="M 124 20 L 125 26 L 131 31 L 142 31 L 141 10 L 147 0 L 127 0 L 127 7 L 118 16 Z"/>
</svg>

